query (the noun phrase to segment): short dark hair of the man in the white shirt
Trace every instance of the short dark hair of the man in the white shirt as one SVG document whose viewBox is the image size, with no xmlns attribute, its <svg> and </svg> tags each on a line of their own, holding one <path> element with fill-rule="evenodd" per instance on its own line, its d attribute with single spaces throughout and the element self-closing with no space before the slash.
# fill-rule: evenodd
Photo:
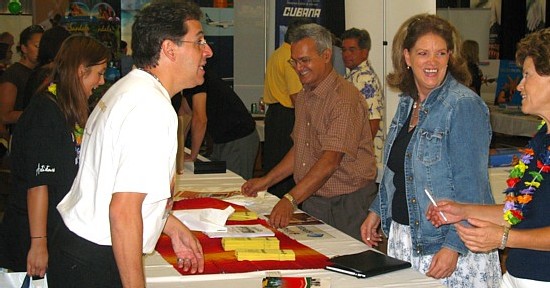
<svg viewBox="0 0 550 288">
<path fill-rule="evenodd" d="M 187 20 L 200 20 L 202 12 L 193 2 L 157 1 L 144 7 L 132 25 L 132 57 L 138 68 L 156 67 L 164 40 L 180 44 L 188 32 Z"/>
</svg>

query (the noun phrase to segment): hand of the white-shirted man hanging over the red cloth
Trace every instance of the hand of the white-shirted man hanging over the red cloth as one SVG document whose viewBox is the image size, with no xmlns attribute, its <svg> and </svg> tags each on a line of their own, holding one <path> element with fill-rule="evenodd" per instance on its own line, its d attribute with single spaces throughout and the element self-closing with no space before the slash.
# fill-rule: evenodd
<svg viewBox="0 0 550 288">
<path fill-rule="evenodd" d="M 176 217 L 170 215 L 164 227 L 164 233 L 170 236 L 172 248 L 178 257 L 178 267 L 191 273 L 204 271 L 204 255 L 199 240 Z"/>
</svg>

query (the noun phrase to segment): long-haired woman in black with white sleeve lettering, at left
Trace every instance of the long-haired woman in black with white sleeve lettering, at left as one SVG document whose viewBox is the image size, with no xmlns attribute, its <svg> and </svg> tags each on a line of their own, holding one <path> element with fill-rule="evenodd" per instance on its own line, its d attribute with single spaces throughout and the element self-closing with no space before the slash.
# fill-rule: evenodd
<svg viewBox="0 0 550 288">
<path fill-rule="evenodd" d="M 41 86 L 19 118 L 10 154 L 15 193 L 9 195 L 2 228 L 9 247 L 3 253 L 11 263 L 0 267 L 44 277 L 48 235 L 62 221 L 55 206 L 76 176 L 88 97 L 104 83 L 109 57 L 109 50 L 93 38 L 67 40 L 54 61 L 53 81 Z"/>
</svg>

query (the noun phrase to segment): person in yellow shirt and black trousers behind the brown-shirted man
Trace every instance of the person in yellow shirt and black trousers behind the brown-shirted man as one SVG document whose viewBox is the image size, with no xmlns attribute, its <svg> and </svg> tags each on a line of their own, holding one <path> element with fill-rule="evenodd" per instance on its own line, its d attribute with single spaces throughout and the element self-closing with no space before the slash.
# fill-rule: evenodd
<svg viewBox="0 0 550 288">
<path fill-rule="evenodd" d="M 298 18 L 288 25 L 285 42 L 277 48 L 267 60 L 264 82 L 264 102 L 267 104 L 265 113 L 264 147 L 262 169 L 267 172 L 279 163 L 292 147 L 290 133 L 294 126 L 293 98 L 302 90 L 302 83 L 288 64 L 290 59 L 290 37 L 296 28 L 311 20 Z M 281 198 L 296 183 L 291 175 L 273 183 L 269 193 Z"/>
</svg>

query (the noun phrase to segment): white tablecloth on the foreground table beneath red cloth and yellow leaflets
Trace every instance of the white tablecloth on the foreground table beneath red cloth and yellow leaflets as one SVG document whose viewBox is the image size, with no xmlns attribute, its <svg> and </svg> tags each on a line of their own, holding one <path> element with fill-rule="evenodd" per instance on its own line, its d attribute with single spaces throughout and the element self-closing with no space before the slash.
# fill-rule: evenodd
<svg viewBox="0 0 550 288">
<path fill-rule="evenodd" d="M 179 177 L 178 182 L 183 185 L 194 186 L 194 183 L 203 183 L 205 177 L 213 185 L 220 185 L 227 180 L 235 179 L 236 174 L 228 171 L 225 174 L 209 174 L 208 176 L 196 175 L 191 172 L 190 165 L 186 165 L 185 173 Z M 238 177 L 238 176 L 237 176 Z M 188 183 L 185 183 L 188 182 Z M 181 183 L 178 183 L 181 185 Z M 260 193 L 257 198 L 232 197 L 232 202 L 245 205 L 248 209 L 256 211 L 259 214 L 271 212 L 271 208 L 278 200 L 277 197 L 265 193 Z M 330 227 L 329 225 L 317 225 L 320 229 L 334 236 L 334 238 L 324 240 L 304 240 L 303 244 L 315 249 L 316 251 L 328 256 L 351 254 L 370 249 L 364 243 L 359 242 L 346 234 Z M 285 276 L 315 276 L 331 278 L 331 287 L 333 288 L 353 288 L 353 287 L 443 287 L 437 280 L 428 278 L 419 272 L 409 268 L 368 279 L 357 279 L 352 276 L 338 274 L 323 269 L 308 270 L 280 270 Z M 266 275 L 266 271 L 257 271 L 249 273 L 234 274 L 209 274 L 209 275 L 191 275 L 182 276 L 173 267 L 168 264 L 158 253 L 153 253 L 145 257 L 145 274 L 147 277 L 147 287 L 239 287 L 239 288 L 258 288 L 261 287 L 261 280 Z"/>
</svg>

